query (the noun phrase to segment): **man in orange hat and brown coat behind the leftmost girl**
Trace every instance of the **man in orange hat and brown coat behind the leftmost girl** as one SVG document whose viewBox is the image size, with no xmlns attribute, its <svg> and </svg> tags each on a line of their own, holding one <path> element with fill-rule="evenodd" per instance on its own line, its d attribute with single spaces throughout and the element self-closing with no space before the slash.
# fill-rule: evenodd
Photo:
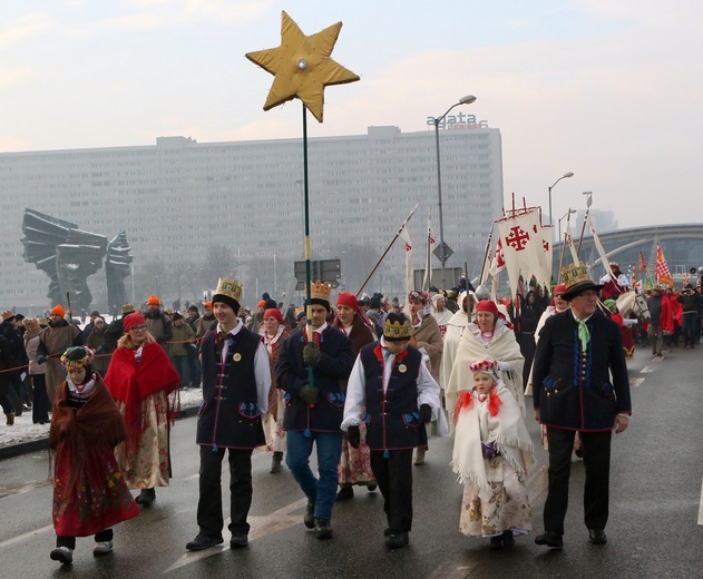
<svg viewBox="0 0 703 579">
<path fill-rule="evenodd" d="M 37 362 L 47 363 L 47 395 L 49 408 L 53 405 L 56 390 L 66 380 L 66 370 L 61 366 L 61 354 L 71 346 L 82 346 L 84 341 L 80 328 L 69 324 L 66 320 L 66 311 L 58 304 L 49 312 L 49 327 L 45 327 L 39 335 L 37 347 Z"/>
</svg>

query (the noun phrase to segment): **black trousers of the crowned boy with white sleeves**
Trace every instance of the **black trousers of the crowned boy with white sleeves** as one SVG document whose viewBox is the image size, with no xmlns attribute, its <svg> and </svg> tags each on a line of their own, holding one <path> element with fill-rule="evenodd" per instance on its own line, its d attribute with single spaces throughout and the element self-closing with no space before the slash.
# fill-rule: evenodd
<svg viewBox="0 0 703 579">
<path fill-rule="evenodd" d="M 371 470 L 383 495 L 383 511 L 391 532 L 412 529 L 412 449 L 371 451 Z"/>
</svg>

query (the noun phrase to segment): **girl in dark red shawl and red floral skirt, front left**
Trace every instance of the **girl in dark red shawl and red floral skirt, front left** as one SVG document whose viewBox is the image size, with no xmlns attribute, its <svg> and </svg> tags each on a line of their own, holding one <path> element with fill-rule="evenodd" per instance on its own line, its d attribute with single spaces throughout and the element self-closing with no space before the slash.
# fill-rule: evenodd
<svg viewBox="0 0 703 579">
<path fill-rule="evenodd" d="M 125 423 L 102 379 L 91 369 L 92 356 L 84 346 L 64 353 L 60 362 L 68 375 L 57 390 L 51 413 L 57 540 L 50 556 L 61 563 L 72 562 L 76 537 L 95 534 L 94 555 L 109 553 L 111 527 L 139 513 L 113 452 L 127 436 Z"/>
</svg>

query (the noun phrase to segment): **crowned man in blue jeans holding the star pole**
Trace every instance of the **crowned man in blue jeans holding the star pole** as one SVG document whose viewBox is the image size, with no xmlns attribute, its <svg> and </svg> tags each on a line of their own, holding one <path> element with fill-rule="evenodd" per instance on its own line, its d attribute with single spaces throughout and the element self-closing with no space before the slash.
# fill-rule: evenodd
<svg viewBox="0 0 703 579">
<path fill-rule="evenodd" d="M 318 539 L 332 537 L 332 507 L 336 497 L 338 464 L 342 454 L 343 384 L 354 365 L 354 346 L 346 335 L 326 323 L 330 315 L 328 283 L 311 288 L 311 325 L 283 342 L 275 366 L 279 387 L 285 391 L 283 428 L 286 464 L 307 497 L 303 522 Z M 312 369 L 312 371 L 311 371 Z M 312 376 L 312 380 L 311 380 Z M 313 442 L 319 478 L 310 470 Z"/>
</svg>

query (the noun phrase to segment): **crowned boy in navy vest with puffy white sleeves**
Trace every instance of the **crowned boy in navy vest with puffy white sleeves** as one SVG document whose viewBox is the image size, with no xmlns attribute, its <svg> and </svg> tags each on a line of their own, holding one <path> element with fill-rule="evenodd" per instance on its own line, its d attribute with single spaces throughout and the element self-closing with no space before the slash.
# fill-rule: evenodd
<svg viewBox="0 0 703 579">
<path fill-rule="evenodd" d="M 371 469 L 383 494 L 388 519 L 385 544 L 408 544 L 412 527 L 412 451 L 419 426 L 437 420 L 439 385 L 423 355 L 410 345 L 412 325 L 401 313 L 390 313 L 383 336 L 361 349 L 346 385 L 342 430 L 359 445 L 359 424 L 367 422 Z"/>
</svg>

